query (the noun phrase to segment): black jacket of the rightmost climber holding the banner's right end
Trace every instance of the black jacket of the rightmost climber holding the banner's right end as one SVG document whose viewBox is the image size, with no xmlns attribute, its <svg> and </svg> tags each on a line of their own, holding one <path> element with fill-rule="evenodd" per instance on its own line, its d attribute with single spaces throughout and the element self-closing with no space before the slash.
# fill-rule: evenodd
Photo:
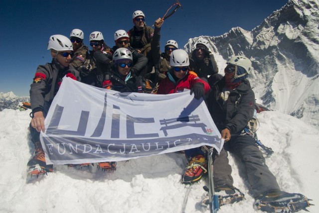
<svg viewBox="0 0 319 213">
<path fill-rule="evenodd" d="M 228 100 L 224 102 L 221 98 L 224 87 L 225 78 L 211 86 L 207 107 L 220 131 L 228 128 L 231 134 L 239 133 L 254 115 L 255 94 L 246 79 L 230 92 Z"/>
</svg>

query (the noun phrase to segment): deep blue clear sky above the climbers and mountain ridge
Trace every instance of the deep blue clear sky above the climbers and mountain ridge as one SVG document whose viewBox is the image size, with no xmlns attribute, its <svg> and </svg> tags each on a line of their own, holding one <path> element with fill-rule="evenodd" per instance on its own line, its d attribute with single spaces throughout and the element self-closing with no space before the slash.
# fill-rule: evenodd
<svg viewBox="0 0 319 213">
<path fill-rule="evenodd" d="M 175 0 L 1 0 L 0 92 L 28 96 L 38 65 L 51 62 L 50 35 L 69 37 L 74 28 L 89 34 L 101 31 L 108 46 L 114 32 L 133 27 L 132 14 L 142 10 L 151 26 Z M 189 38 L 219 36 L 232 27 L 252 30 L 288 0 L 180 0 L 178 9 L 161 29 L 161 49 L 173 39 L 182 48 Z"/>
</svg>

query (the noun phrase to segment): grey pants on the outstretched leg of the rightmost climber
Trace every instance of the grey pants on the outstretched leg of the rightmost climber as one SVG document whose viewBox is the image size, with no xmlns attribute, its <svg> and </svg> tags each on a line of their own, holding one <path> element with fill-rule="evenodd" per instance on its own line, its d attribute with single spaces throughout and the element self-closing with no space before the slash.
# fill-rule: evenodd
<svg viewBox="0 0 319 213">
<path fill-rule="evenodd" d="M 263 153 L 251 136 L 232 136 L 224 144 L 224 147 L 237 155 L 244 164 L 247 179 L 255 198 L 272 189 L 280 190 L 276 177 L 269 170 Z"/>
</svg>

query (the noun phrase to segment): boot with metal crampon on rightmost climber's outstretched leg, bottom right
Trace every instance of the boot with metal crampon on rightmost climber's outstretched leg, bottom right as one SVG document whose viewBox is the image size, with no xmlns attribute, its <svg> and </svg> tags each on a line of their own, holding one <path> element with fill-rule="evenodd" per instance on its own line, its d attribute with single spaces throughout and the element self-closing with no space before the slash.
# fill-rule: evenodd
<svg viewBox="0 0 319 213">
<path fill-rule="evenodd" d="M 286 193 L 275 201 L 263 201 L 264 198 L 256 200 L 255 205 L 257 210 L 269 213 L 295 213 L 301 210 L 309 212 L 306 208 L 314 206 L 309 203 L 311 199 L 298 193 Z"/>
</svg>

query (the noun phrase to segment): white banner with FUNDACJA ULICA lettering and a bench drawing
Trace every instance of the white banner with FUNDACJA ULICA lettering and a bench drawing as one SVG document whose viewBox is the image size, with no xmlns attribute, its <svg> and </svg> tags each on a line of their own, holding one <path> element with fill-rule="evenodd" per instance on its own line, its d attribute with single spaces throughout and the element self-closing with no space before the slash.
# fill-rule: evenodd
<svg viewBox="0 0 319 213">
<path fill-rule="evenodd" d="M 203 100 L 118 93 L 64 78 L 40 140 L 47 164 L 123 161 L 224 140 Z"/>
</svg>

